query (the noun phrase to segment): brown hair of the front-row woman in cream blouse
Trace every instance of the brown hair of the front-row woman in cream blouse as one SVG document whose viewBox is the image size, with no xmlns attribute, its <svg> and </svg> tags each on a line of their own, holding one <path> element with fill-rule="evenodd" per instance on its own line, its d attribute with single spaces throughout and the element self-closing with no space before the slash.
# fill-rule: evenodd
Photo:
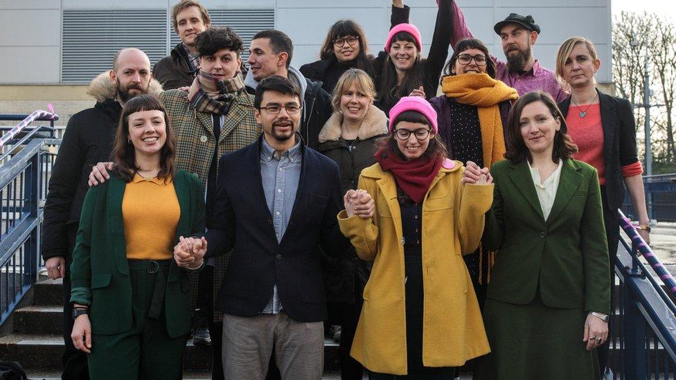
<svg viewBox="0 0 676 380">
<path fill-rule="evenodd" d="M 521 113 L 526 105 L 534 102 L 542 102 L 549 109 L 551 116 L 555 119 L 558 118 L 561 122 L 560 129 L 554 134 L 554 148 L 551 152 L 551 160 L 558 162 L 560 159 L 570 159 L 573 154 L 578 152 L 578 146 L 568 136 L 566 118 L 561 114 L 559 107 L 557 107 L 551 95 L 540 90 L 531 91 L 521 96 L 509 111 L 505 158 L 513 163 L 521 163 L 526 160 L 531 161 L 531 152 L 526 147 L 524 138 L 521 136 Z"/>
</svg>

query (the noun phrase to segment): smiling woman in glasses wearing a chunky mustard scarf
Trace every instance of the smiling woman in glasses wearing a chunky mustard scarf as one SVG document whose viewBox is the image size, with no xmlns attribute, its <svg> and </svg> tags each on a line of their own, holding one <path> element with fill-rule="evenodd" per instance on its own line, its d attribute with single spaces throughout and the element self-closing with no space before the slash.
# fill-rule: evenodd
<svg viewBox="0 0 676 380">
<path fill-rule="evenodd" d="M 504 125 L 517 91 L 495 79 L 495 62 L 479 39 L 463 39 L 455 46 L 441 79 L 444 95 L 429 100 L 436 109 L 439 137 L 451 159 L 472 161 L 481 168 L 505 154 Z M 481 248 L 465 255 L 479 305 L 486 298 L 489 255 Z"/>
</svg>

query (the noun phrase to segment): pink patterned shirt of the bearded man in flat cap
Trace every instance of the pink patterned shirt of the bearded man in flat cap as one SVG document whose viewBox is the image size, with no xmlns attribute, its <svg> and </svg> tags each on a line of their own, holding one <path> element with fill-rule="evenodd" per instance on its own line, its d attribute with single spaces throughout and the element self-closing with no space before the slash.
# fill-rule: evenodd
<svg viewBox="0 0 676 380">
<path fill-rule="evenodd" d="M 465 23 L 465 16 L 458 4 L 453 1 L 453 33 L 451 35 L 451 45 L 455 46 L 465 38 L 474 38 L 472 32 Z M 497 68 L 496 79 L 505 82 L 509 87 L 517 90 L 519 96 L 528 91 L 542 90 L 549 93 L 556 102 L 562 102 L 568 98 L 568 94 L 561 89 L 561 85 L 556 80 L 554 72 L 540 66 L 540 62 L 535 60 L 533 67 L 525 73 L 510 73 L 507 70 L 507 64 L 497 57 L 491 55 Z"/>
</svg>

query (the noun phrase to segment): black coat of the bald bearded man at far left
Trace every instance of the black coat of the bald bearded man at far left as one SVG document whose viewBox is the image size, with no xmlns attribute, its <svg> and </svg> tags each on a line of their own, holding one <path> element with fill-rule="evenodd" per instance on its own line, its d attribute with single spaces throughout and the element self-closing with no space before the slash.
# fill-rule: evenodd
<svg viewBox="0 0 676 380">
<path fill-rule="evenodd" d="M 42 258 L 69 257 L 80 224 L 91 167 L 110 161 L 122 107 L 116 100 L 97 102 L 73 115 L 66 125 L 52 168 L 42 224 Z"/>
</svg>

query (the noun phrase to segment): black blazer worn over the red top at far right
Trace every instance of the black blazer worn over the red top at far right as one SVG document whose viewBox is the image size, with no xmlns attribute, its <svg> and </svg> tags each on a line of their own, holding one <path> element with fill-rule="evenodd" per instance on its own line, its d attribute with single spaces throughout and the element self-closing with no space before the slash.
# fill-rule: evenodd
<svg viewBox="0 0 676 380">
<path fill-rule="evenodd" d="M 636 152 L 636 121 L 629 100 L 616 98 L 598 91 L 603 125 L 603 162 L 605 165 L 605 192 L 608 206 L 620 208 L 625 188 L 622 167 L 639 161 Z M 571 97 L 559 103 L 564 117 L 568 116 Z"/>
</svg>

